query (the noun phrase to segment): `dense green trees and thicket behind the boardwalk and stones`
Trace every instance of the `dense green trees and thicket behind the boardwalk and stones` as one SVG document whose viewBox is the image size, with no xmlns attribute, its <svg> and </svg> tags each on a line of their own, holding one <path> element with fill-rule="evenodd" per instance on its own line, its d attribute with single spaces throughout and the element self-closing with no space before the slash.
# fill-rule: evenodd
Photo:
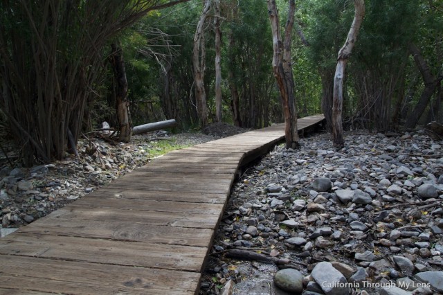
<svg viewBox="0 0 443 295">
<path fill-rule="evenodd" d="M 0 124 L 24 164 L 62 159 L 104 120 L 118 129 L 118 101 L 132 126 L 170 118 L 186 130 L 218 120 L 248 128 L 282 122 L 266 1 L 214 0 L 201 24 L 208 1 L 1 1 Z M 276 3 L 283 28 L 288 1 Z M 323 113 L 330 127 L 337 53 L 353 17 L 354 1 L 296 1 L 299 117 Z M 199 24 L 206 122 L 193 66 Z M 366 0 L 343 83 L 343 126 L 388 132 L 442 122 L 442 38 L 442 0 Z"/>
</svg>

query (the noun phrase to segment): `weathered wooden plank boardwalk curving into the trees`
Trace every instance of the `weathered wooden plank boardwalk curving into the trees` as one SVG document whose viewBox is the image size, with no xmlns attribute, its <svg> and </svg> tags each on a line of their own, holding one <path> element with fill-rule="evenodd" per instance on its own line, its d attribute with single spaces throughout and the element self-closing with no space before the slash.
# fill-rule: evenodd
<svg viewBox="0 0 443 295">
<path fill-rule="evenodd" d="M 197 294 L 235 172 L 283 138 L 275 125 L 170 152 L 1 238 L 0 294 Z"/>
</svg>

